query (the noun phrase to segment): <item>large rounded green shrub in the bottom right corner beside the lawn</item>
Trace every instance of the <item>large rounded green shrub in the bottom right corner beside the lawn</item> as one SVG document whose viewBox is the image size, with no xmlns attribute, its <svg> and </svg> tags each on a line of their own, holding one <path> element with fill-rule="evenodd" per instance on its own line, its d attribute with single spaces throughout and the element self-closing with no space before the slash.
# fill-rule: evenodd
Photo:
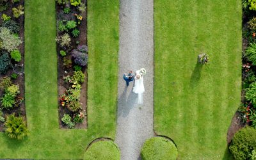
<svg viewBox="0 0 256 160">
<path fill-rule="evenodd" d="M 237 131 L 229 150 L 235 159 L 249 159 L 252 150 L 256 150 L 256 129 L 245 127 Z"/>
</svg>

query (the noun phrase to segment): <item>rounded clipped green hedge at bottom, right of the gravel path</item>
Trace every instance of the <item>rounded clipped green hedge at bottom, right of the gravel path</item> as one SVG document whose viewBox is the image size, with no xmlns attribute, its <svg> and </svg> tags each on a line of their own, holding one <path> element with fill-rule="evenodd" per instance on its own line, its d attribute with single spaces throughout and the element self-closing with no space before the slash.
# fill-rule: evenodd
<svg viewBox="0 0 256 160">
<path fill-rule="evenodd" d="M 141 158 L 148 159 L 177 159 L 178 150 L 172 141 L 163 137 L 147 140 L 141 150 Z"/>
</svg>

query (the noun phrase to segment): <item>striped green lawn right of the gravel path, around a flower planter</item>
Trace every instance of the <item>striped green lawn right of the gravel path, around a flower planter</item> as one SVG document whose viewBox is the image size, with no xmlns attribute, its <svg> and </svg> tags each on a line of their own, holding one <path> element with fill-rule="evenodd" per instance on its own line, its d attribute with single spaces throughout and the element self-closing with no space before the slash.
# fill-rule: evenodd
<svg viewBox="0 0 256 160">
<path fill-rule="evenodd" d="M 154 1 L 154 120 L 179 159 L 229 159 L 241 99 L 241 1 Z M 207 66 L 196 63 L 209 54 Z"/>
</svg>

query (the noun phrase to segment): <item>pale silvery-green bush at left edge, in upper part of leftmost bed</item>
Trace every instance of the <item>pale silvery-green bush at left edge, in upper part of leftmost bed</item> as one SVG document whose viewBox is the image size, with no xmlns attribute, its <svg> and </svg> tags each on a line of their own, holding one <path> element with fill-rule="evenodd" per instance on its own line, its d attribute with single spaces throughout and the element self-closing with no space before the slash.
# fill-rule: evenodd
<svg viewBox="0 0 256 160">
<path fill-rule="evenodd" d="M 2 49 L 8 52 L 18 49 L 22 43 L 19 36 L 12 35 L 8 28 L 0 28 L 0 40 L 2 42 Z"/>
</svg>

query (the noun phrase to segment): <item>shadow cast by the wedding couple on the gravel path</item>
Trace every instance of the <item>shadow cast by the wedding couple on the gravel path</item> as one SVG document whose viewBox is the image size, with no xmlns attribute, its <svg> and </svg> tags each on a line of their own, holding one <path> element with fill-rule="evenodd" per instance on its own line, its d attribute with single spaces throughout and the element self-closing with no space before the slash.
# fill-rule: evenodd
<svg viewBox="0 0 256 160">
<path fill-rule="evenodd" d="M 136 94 L 125 87 L 124 92 L 118 98 L 118 117 L 129 115 L 130 110 L 136 101 Z"/>
</svg>

